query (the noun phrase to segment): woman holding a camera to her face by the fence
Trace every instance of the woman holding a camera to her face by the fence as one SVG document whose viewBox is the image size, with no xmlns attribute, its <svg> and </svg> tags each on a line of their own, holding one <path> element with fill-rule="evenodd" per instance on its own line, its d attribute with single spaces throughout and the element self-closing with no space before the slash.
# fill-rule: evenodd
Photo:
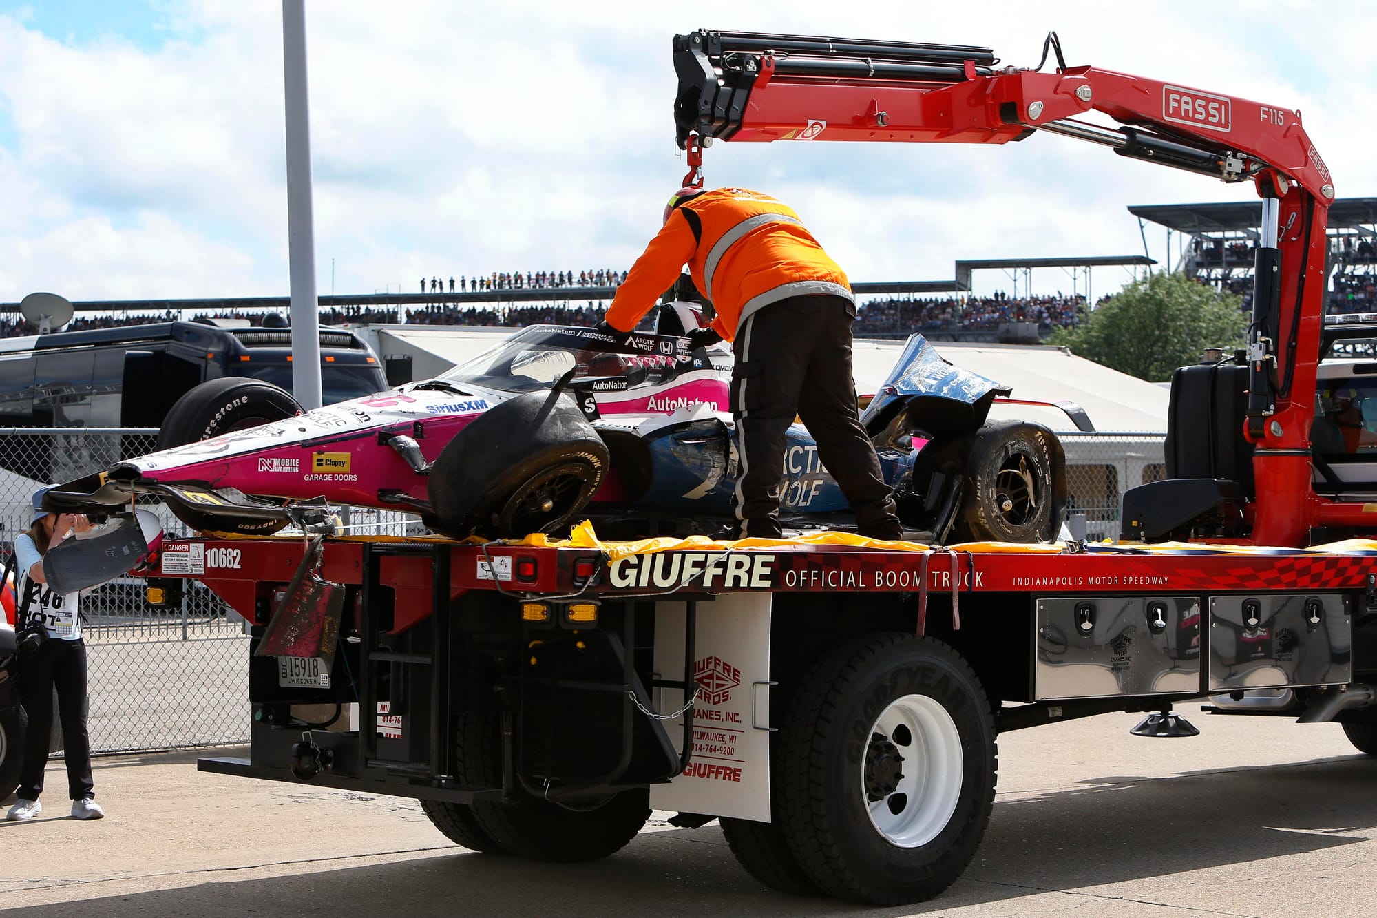
<svg viewBox="0 0 1377 918">
<path fill-rule="evenodd" d="M 43 812 L 43 771 L 48 759 L 48 736 L 52 731 L 52 689 L 58 691 L 58 715 L 62 721 L 63 757 L 67 765 L 67 793 L 74 819 L 101 819 L 105 810 L 92 799 L 91 740 L 87 736 L 87 662 L 77 615 L 80 593 L 58 595 L 48 589 L 43 573 L 43 555 L 51 546 L 74 532 L 91 532 L 91 522 L 81 514 L 54 514 L 43 509 L 40 488 L 33 495 L 33 522 L 14 540 L 15 622 L 36 629 L 39 645 L 19 662 L 19 695 L 29 714 L 25 732 L 23 765 L 19 769 L 18 802 L 10 819 L 33 819 Z"/>
</svg>

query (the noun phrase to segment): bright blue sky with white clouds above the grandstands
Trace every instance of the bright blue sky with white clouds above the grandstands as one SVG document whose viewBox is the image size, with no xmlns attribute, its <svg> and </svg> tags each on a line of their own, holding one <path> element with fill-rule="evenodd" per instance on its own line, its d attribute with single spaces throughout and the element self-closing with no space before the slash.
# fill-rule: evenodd
<svg viewBox="0 0 1377 918">
<path fill-rule="evenodd" d="M 629 266 L 684 172 L 669 41 L 698 28 L 983 44 L 1022 66 L 1055 29 L 1070 65 L 1300 109 L 1338 194 L 1377 194 L 1377 4 L 1359 0 L 308 0 L 321 294 Z M 0 302 L 286 294 L 280 3 L 0 0 Z M 719 143 L 705 165 L 793 204 L 856 281 L 1142 254 L 1126 205 L 1252 196 L 1048 135 Z M 1166 258 L 1161 227 L 1147 241 Z M 1095 294 L 1124 278 L 1102 269 Z"/>
</svg>

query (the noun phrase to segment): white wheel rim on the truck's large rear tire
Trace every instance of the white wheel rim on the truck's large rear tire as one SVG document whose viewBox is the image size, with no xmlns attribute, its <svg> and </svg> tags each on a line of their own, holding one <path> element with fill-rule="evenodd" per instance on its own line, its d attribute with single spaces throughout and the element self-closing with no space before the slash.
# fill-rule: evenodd
<svg viewBox="0 0 1377 918">
<path fill-rule="evenodd" d="M 905 695 L 890 702 L 870 726 L 861 766 L 870 824 L 899 848 L 927 845 L 956 812 L 964 761 L 961 733 L 936 699 Z"/>
</svg>

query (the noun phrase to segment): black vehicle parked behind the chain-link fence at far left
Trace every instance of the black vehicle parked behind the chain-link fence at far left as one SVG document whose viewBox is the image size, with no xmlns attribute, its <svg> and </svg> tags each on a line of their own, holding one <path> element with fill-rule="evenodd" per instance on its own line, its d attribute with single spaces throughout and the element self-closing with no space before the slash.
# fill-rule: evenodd
<svg viewBox="0 0 1377 918">
<path fill-rule="evenodd" d="M 377 356 L 362 338 L 337 328 L 319 334 L 326 404 L 387 389 Z M 178 398 L 222 376 L 264 379 L 291 391 L 292 329 L 175 321 L 0 339 L 0 427 L 158 427 Z M 72 444 L 61 445 L 58 455 L 37 440 L 0 437 L 0 466 L 28 478 L 61 481 L 51 477 L 61 474 L 55 463 L 66 465 L 59 456 L 92 438 L 70 437 Z M 102 452 L 113 448 L 107 442 Z M 146 449 L 140 444 L 138 452 Z M 70 459 L 101 462 L 96 456 Z"/>
</svg>

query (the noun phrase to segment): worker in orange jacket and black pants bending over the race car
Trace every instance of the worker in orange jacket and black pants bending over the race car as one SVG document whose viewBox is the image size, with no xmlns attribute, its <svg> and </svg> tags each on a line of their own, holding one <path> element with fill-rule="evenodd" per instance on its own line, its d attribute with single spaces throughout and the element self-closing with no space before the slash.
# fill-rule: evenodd
<svg viewBox="0 0 1377 918">
<path fill-rule="evenodd" d="M 851 378 L 855 300 L 843 270 L 799 215 L 741 187 L 684 187 L 607 309 L 603 329 L 627 336 L 688 265 L 716 309 L 694 346 L 733 342 L 731 412 L 741 474 L 733 506 L 742 538 L 779 538 L 789 425 L 800 416 L 851 503 L 861 535 L 899 539 L 894 492 L 856 416 Z"/>
</svg>

